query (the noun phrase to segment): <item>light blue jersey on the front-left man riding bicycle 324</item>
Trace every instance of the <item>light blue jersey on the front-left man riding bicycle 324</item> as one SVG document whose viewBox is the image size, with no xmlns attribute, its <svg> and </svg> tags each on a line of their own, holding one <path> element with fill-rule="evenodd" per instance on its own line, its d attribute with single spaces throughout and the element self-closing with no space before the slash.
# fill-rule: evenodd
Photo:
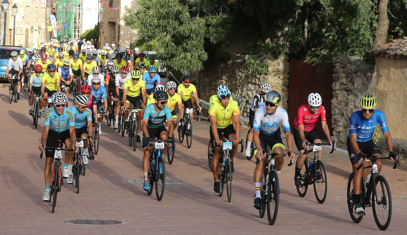
<svg viewBox="0 0 407 235">
<path fill-rule="evenodd" d="M 70 109 L 65 107 L 63 113 L 59 115 L 54 107 L 47 109 L 44 116 L 44 126 L 49 126 L 50 130 L 55 132 L 64 132 L 70 126 L 74 126 L 74 118 Z"/>
</svg>

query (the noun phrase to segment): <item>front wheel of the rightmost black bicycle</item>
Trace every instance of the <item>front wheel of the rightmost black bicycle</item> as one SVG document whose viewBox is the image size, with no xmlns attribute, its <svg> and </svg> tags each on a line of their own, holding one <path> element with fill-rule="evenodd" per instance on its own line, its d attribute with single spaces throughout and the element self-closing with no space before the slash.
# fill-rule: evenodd
<svg viewBox="0 0 407 235">
<path fill-rule="evenodd" d="M 370 180 L 372 182 L 372 180 Z M 378 175 L 376 182 L 376 195 L 372 192 L 372 209 L 374 222 L 380 230 L 386 230 L 392 220 L 392 194 L 389 183 L 383 175 Z"/>
</svg>

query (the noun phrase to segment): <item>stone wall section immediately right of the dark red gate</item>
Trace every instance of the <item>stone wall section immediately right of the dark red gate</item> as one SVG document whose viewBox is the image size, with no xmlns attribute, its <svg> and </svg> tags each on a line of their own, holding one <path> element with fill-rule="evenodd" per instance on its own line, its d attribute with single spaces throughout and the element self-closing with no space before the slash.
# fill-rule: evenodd
<svg viewBox="0 0 407 235">
<path fill-rule="evenodd" d="M 337 145 L 346 148 L 349 117 L 360 109 L 359 99 L 368 92 L 374 65 L 357 57 L 335 58 L 333 75 L 332 128 Z"/>
</svg>

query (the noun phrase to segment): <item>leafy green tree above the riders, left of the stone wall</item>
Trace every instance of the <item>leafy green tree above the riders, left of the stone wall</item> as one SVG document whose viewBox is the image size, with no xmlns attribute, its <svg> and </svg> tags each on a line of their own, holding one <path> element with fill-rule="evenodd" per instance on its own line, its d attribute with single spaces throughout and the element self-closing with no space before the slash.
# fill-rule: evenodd
<svg viewBox="0 0 407 235">
<path fill-rule="evenodd" d="M 139 29 L 149 51 L 156 51 L 164 67 L 185 72 L 200 70 L 208 48 L 224 49 L 232 18 L 223 0 L 140 0 L 125 25 Z"/>
</svg>

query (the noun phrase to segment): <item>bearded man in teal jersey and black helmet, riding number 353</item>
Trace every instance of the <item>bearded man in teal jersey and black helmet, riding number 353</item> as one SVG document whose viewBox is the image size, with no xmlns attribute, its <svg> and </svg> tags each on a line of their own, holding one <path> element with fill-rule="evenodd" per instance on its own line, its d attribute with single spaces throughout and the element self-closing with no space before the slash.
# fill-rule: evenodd
<svg viewBox="0 0 407 235">
<path fill-rule="evenodd" d="M 173 120 L 171 118 L 171 111 L 166 103 L 168 101 L 168 94 L 165 91 L 156 91 L 154 93 L 154 104 L 149 104 L 143 114 L 143 173 L 144 173 L 144 190 L 150 189 L 149 184 L 149 158 L 151 155 L 151 146 L 153 144 L 154 138 L 160 138 L 166 143 L 171 143 L 173 141 Z M 169 130 L 164 126 L 164 122 L 167 120 Z M 149 147 L 149 148 L 147 148 Z M 165 156 L 167 149 L 163 149 L 161 152 L 162 156 Z"/>
</svg>

